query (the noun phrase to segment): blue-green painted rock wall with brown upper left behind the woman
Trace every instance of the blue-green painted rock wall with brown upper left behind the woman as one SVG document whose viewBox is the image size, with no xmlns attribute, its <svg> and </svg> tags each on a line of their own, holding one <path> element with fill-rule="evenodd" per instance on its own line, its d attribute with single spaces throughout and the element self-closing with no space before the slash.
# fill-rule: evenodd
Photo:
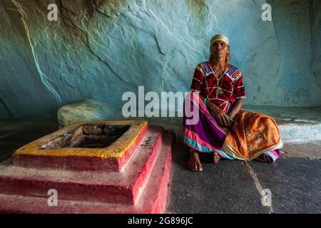
<svg viewBox="0 0 321 228">
<path fill-rule="evenodd" d="M 0 118 L 88 98 L 121 107 L 138 86 L 188 91 L 215 33 L 230 38 L 245 104 L 320 106 L 320 14 L 317 0 L 1 0 Z"/>
</svg>

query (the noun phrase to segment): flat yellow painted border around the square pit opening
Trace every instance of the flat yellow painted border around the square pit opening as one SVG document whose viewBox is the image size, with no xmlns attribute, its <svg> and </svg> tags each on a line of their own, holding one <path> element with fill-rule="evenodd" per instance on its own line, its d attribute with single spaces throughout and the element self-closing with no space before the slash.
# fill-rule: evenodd
<svg viewBox="0 0 321 228">
<path fill-rule="evenodd" d="M 52 140 L 58 138 L 64 133 L 68 133 L 71 130 L 78 128 L 85 124 L 106 124 L 106 125 L 131 125 L 131 127 L 124 133 L 121 138 L 118 138 L 113 144 L 106 148 L 58 148 L 58 149 L 41 149 L 42 145 L 46 145 Z M 86 121 L 74 123 L 68 125 L 61 130 L 58 130 L 50 135 L 46 135 L 39 140 L 30 142 L 27 145 L 16 150 L 13 156 L 19 155 L 36 155 L 36 156 L 54 156 L 54 157 L 66 157 L 66 156 L 82 156 L 82 157 L 123 157 L 126 150 L 133 146 L 136 139 L 140 135 L 141 130 L 147 127 L 148 122 L 145 120 L 99 120 L 99 121 Z"/>
</svg>

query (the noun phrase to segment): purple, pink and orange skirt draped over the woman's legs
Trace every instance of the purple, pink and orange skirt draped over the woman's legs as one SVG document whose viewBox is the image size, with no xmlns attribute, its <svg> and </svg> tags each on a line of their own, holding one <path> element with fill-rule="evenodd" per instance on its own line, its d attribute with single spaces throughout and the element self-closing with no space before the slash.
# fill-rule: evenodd
<svg viewBox="0 0 321 228">
<path fill-rule="evenodd" d="M 184 113 L 184 142 L 188 147 L 199 152 L 218 152 L 221 157 L 230 160 L 253 160 L 256 158 L 272 163 L 280 157 L 282 141 L 275 120 L 267 115 L 242 110 L 243 114 L 237 115 L 235 124 L 226 133 L 220 128 L 215 118 L 210 115 L 197 93 L 191 93 L 190 99 L 186 99 L 186 102 L 190 103 L 190 107 L 193 105 L 198 107 L 198 113 L 193 110 L 193 115 L 199 115 L 198 123 L 187 125 L 188 117 Z M 251 120 L 251 118 L 253 119 Z M 254 118 L 259 120 L 255 121 Z M 265 126 L 260 127 L 259 125 Z M 243 134 L 242 129 L 244 129 Z M 242 145 L 241 149 L 238 148 L 239 145 Z"/>
</svg>

